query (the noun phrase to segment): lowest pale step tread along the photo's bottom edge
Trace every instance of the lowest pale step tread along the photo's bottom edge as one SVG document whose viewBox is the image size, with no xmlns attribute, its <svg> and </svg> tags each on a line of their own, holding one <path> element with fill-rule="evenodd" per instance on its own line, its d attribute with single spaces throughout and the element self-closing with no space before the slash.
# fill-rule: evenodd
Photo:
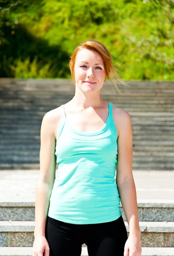
<svg viewBox="0 0 174 256">
<path fill-rule="evenodd" d="M 0 256 L 32 256 L 32 247 L 0 247 Z M 81 256 L 88 256 L 87 247 L 81 248 Z M 142 247 L 142 256 L 174 256 L 174 248 Z"/>
</svg>

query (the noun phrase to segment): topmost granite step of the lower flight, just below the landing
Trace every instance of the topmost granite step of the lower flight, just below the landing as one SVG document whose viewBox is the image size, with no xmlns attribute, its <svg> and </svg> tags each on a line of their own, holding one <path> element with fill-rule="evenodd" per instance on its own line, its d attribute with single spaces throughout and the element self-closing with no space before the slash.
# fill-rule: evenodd
<svg viewBox="0 0 174 256">
<path fill-rule="evenodd" d="M 161 189 L 162 190 L 162 189 Z M 171 190 L 170 190 L 171 191 Z M 124 221 L 125 213 L 120 207 Z M 139 221 L 174 221 L 174 203 L 138 202 Z M 34 221 L 34 202 L 0 202 L 0 221 Z"/>
</svg>

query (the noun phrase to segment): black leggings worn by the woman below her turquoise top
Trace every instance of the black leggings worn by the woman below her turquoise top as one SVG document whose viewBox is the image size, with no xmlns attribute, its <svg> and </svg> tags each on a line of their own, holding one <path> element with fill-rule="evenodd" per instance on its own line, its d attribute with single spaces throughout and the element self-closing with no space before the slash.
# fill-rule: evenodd
<svg viewBox="0 0 174 256">
<path fill-rule="evenodd" d="M 45 236 L 49 256 L 81 256 L 84 243 L 89 256 L 124 256 L 128 239 L 122 216 L 99 224 L 70 224 L 47 217 Z"/>
</svg>

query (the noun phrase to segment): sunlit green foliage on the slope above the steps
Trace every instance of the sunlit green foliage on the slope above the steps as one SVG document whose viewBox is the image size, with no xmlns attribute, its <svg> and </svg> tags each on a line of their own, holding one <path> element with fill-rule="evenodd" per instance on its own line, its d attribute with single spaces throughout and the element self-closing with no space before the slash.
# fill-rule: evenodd
<svg viewBox="0 0 174 256">
<path fill-rule="evenodd" d="M 87 39 L 101 41 L 122 79 L 174 79 L 174 0 L 1 0 L 0 76 L 70 77 Z"/>
</svg>

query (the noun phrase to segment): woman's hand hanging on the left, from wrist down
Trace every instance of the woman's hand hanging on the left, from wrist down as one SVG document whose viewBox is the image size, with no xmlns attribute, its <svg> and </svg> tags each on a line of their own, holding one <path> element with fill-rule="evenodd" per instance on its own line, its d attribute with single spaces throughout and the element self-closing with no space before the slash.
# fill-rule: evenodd
<svg viewBox="0 0 174 256">
<path fill-rule="evenodd" d="M 32 256 L 43 255 L 49 256 L 49 244 L 44 236 L 35 237 Z"/>
</svg>

